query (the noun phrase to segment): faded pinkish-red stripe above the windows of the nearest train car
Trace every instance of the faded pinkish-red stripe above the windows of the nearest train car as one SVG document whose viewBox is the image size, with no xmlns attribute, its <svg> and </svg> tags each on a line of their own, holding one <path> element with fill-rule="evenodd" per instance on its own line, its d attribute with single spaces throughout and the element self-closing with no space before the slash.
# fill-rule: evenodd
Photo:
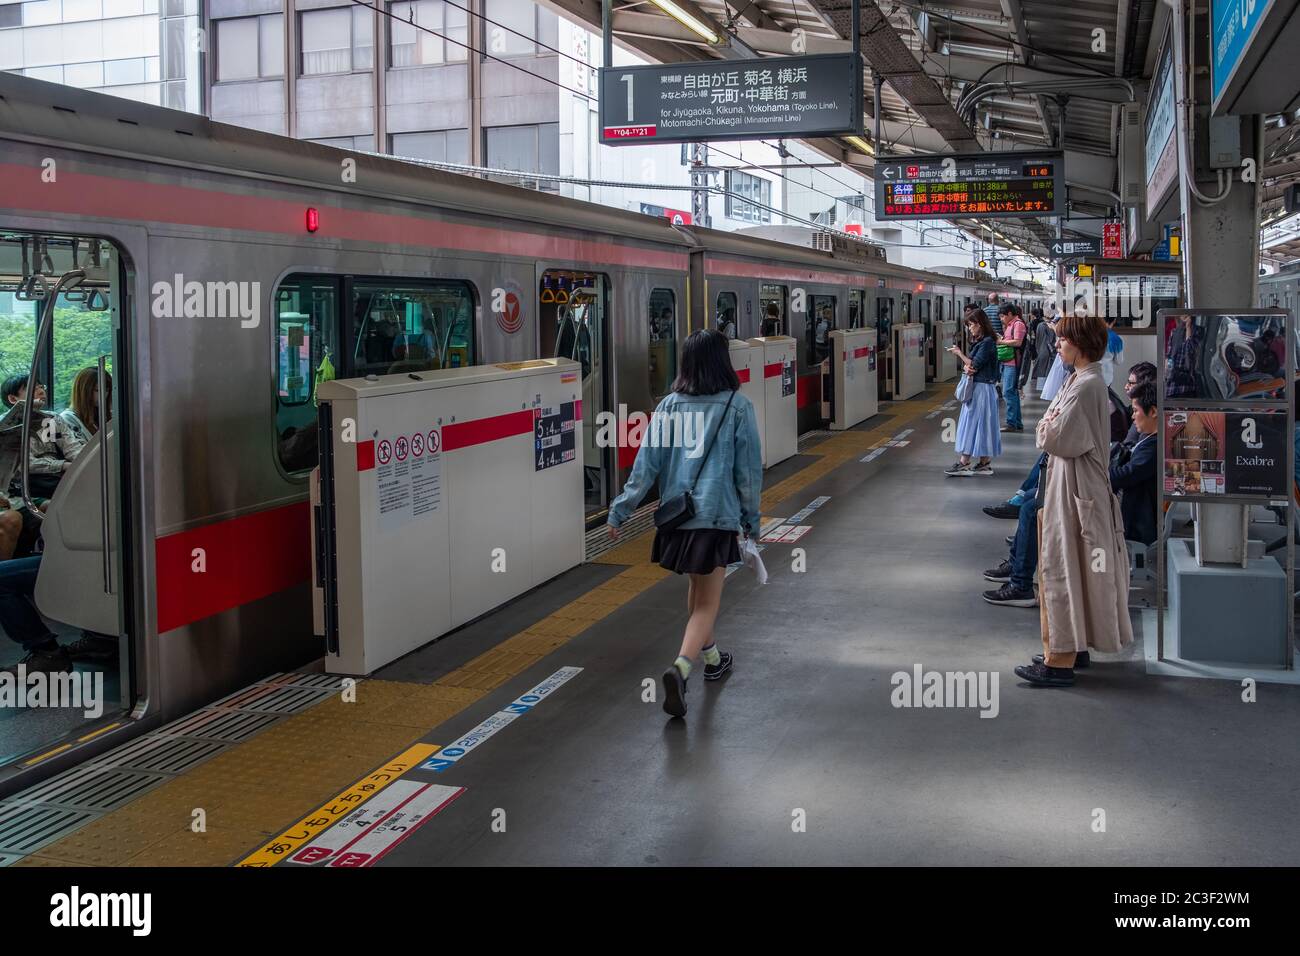
<svg viewBox="0 0 1300 956">
<path fill-rule="evenodd" d="M 450 224 L 429 219 L 426 209 L 400 215 L 320 206 L 320 199 L 325 195 L 320 190 L 312 193 L 304 189 L 303 199 L 290 200 L 75 173 L 64 168 L 58 169 L 56 181 L 42 183 L 36 178 L 40 172 L 39 166 L 0 163 L 0 208 L 300 235 L 304 243 L 355 239 L 659 269 L 686 268 L 685 254 L 644 246 L 568 239 L 465 222 Z M 358 198 L 370 202 L 370 196 Z M 311 235 L 303 226 L 303 211 L 308 202 L 320 209 L 320 232 Z"/>
</svg>

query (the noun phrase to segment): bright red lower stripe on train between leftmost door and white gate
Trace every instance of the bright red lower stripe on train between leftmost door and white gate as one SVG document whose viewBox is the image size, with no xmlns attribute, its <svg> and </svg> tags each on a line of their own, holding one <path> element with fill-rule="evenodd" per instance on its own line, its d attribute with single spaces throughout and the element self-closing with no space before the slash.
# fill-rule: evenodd
<svg viewBox="0 0 1300 956">
<path fill-rule="evenodd" d="M 203 571 L 195 570 L 202 549 Z M 306 501 L 166 535 L 153 542 L 159 633 L 311 579 Z"/>
</svg>

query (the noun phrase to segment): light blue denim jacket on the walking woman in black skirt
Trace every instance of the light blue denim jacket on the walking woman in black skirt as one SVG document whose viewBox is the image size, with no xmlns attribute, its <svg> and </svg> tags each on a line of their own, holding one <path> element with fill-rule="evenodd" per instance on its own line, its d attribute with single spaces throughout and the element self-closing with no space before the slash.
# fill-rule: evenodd
<svg viewBox="0 0 1300 956">
<path fill-rule="evenodd" d="M 696 516 L 681 525 L 684 529 L 758 532 L 758 502 L 763 492 L 758 424 L 754 406 L 740 392 L 727 410 L 731 394 L 673 392 L 659 402 L 642 436 L 632 476 L 610 505 L 610 524 L 618 528 L 628 520 L 658 479 L 660 501 L 692 490 Z M 718 440 L 705 460 L 715 432 Z"/>
</svg>

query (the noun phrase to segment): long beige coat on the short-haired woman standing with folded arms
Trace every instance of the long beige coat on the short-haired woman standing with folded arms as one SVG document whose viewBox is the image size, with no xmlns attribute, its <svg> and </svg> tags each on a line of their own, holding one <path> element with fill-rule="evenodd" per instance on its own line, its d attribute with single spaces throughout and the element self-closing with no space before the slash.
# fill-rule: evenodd
<svg viewBox="0 0 1300 956">
<path fill-rule="evenodd" d="M 1110 489 L 1110 399 L 1101 365 L 1075 372 L 1039 421 L 1048 453 L 1039 512 L 1039 604 L 1053 653 L 1132 640 L 1128 551 Z"/>
</svg>

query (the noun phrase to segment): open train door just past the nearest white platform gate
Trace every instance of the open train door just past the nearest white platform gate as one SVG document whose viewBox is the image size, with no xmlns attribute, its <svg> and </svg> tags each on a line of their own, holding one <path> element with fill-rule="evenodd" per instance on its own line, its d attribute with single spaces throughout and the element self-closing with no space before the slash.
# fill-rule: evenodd
<svg viewBox="0 0 1300 956">
<path fill-rule="evenodd" d="M 582 367 L 582 489 L 588 519 L 608 509 L 614 476 L 614 449 L 595 442 L 597 423 L 610 410 L 608 302 L 610 281 L 603 274 L 567 269 L 542 273 L 542 355 L 572 359 Z"/>
</svg>

